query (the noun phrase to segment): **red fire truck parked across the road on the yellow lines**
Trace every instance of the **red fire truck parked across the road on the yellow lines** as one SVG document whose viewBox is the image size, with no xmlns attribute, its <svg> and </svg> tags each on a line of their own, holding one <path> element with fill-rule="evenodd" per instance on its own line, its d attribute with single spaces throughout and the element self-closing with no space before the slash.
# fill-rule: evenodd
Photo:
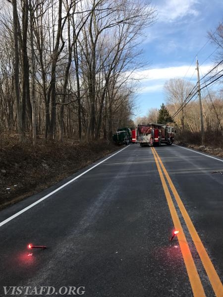
<svg viewBox="0 0 223 297">
<path fill-rule="evenodd" d="M 143 146 L 171 146 L 174 142 L 173 127 L 163 124 L 138 125 L 136 143 Z"/>
</svg>

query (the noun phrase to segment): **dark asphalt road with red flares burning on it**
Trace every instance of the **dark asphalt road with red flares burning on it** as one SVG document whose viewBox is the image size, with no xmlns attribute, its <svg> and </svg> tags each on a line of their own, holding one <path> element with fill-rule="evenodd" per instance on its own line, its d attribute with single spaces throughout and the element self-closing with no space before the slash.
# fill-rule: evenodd
<svg viewBox="0 0 223 297">
<path fill-rule="evenodd" d="M 195 277 L 186 266 L 185 242 L 205 295 L 222 297 L 223 159 L 177 146 L 155 150 L 206 258 L 204 251 L 199 254 L 196 234 L 188 228 L 167 176 L 168 190 L 162 185 L 154 149 L 130 145 L 0 212 L 0 297 L 6 296 L 3 286 L 55 287 L 49 296 L 68 296 L 59 294 L 59 288 L 72 286 L 84 287 L 86 297 L 200 297 L 192 289 Z M 164 168 L 162 172 L 165 176 Z M 172 241 L 175 221 L 168 191 L 182 227 Z M 29 243 L 47 249 L 28 250 Z M 210 270 L 211 280 L 209 268 L 216 272 Z"/>
</svg>

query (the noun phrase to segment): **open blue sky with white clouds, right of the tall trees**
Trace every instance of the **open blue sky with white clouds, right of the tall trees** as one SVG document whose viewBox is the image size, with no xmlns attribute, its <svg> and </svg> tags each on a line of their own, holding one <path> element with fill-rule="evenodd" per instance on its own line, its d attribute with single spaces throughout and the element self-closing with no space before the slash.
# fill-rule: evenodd
<svg viewBox="0 0 223 297">
<path fill-rule="evenodd" d="M 135 73 L 141 81 L 136 116 L 144 116 L 149 108 L 160 108 L 166 102 L 163 86 L 169 79 L 180 77 L 196 83 L 196 55 L 200 77 L 212 68 L 215 53 L 209 55 L 217 46 L 211 44 L 207 32 L 215 31 L 223 21 L 223 0 L 152 0 L 151 4 L 158 17 L 141 45 L 143 59 L 150 65 Z"/>
</svg>

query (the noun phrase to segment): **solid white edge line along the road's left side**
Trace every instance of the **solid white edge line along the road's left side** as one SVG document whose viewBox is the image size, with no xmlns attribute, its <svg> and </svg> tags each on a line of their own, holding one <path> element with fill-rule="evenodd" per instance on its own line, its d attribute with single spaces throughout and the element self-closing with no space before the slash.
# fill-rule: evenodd
<svg viewBox="0 0 223 297">
<path fill-rule="evenodd" d="M 129 146 L 125 147 L 128 148 Z M 85 173 L 87 173 L 88 171 L 92 170 L 93 168 L 97 167 L 98 165 L 102 164 L 103 162 L 107 161 L 108 159 L 110 159 L 111 157 L 113 157 L 114 155 L 116 155 L 117 153 L 119 153 L 120 151 L 122 151 L 122 148 L 120 150 L 118 150 L 117 152 L 115 152 L 114 154 L 112 154 L 111 156 L 109 156 L 108 158 L 106 158 L 105 160 L 99 162 L 98 164 L 92 166 L 91 168 L 89 168 L 88 170 L 82 172 L 81 174 L 79 174 L 78 176 L 74 177 L 72 180 L 70 180 L 69 182 L 65 183 L 64 185 L 60 186 L 59 188 L 57 188 L 56 190 L 54 190 L 53 192 L 49 193 L 48 195 L 40 198 L 39 200 L 37 200 L 36 202 L 30 204 L 29 206 L 23 208 L 22 210 L 16 212 L 15 214 L 13 214 L 12 216 L 10 216 L 9 218 L 7 218 L 6 220 L 0 222 L 0 227 L 3 226 L 4 224 L 8 223 L 9 221 L 13 220 L 14 218 L 16 218 L 17 216 L 19 216 L 20 214 L 22 214 L 23 212 L 25 212 L 26 210 L 32 208 L 33 206 L 37 205 L 38 203 L 40 203 L 41 201 L 45 200 L 46 198 L 50 197 L 51 195 L 55 194 L 56 192 L 58 192 L 59 190 L 61 190 L 62 188 L 66 187 L 67 185 L 69 185 L 70 183 L 72 183 L 73 181 L 75 181 L 76 179 L 78 179 L 79 177 L 81 177 L 82 175 L 84 175 Z"/>
</svg>

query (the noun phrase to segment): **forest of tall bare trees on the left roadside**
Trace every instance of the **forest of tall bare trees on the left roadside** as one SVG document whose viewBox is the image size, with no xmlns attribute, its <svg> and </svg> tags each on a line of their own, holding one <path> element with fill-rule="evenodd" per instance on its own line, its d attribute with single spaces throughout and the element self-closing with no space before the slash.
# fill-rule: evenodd
<svg viewBox="0 0 223 297">
<path fill-rule="evenodd" d="M 110 138 L 130 119 L 154 23 L 147 0 L 5 0 L 0 9 L 0 129 L 22 141 Z"/>
</svg>

